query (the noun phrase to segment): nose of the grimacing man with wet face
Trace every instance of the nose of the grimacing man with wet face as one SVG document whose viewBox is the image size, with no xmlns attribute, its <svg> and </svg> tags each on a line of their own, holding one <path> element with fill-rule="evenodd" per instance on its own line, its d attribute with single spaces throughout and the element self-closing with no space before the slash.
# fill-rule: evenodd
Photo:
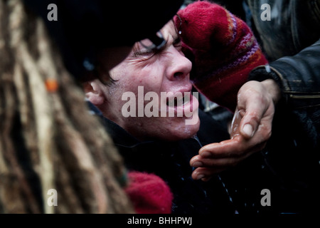
<svg viewBox="0 0 320 228">
<path fill-rule="evenodd" d="M 169 67 L 167 68 L 167 77 L 170 81 L 183 80 L 189 77 L 192 63 L 186 58 L 181 51 L 174 46 L 169 48 Z"/>
</svg>

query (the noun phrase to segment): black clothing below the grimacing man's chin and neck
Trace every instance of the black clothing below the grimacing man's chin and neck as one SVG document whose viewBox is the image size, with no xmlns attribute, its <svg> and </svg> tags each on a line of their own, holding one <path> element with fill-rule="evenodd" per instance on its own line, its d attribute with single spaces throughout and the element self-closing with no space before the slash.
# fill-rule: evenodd
<svg viewBox="0 0 320 228">
<path fill-rule="evenodd" d="M 229 137 L 220 123 L 199 111 L 200 129 L 191 138 L 138 140 L 117 123 L 103 117 L 95 106 L 90 106 L 96 115 L 101 116 L 128 170 L 154 173 L 169 185 L 174 195 L 172 213 L 235 214 L 233 199 L 228 195 L 223 180 L 218 175 L 209 182 L 193 180 L 191 173 L 194 168 L 189 165 L 191 157 L 198 154 L 203 145 Z"/>
</svg>

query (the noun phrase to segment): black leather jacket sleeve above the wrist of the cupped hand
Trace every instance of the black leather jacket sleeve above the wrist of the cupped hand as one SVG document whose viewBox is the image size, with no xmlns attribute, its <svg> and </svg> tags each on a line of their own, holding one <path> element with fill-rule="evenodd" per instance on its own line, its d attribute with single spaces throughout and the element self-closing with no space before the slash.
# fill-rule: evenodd
<svg viewBox="0 0 320 228">
<path fill-rule="evenodd" d="M 292 108 L 320 105 L 320 40 L 295 56 L 286 56 L 265 66 L 255 68 L 249 80 L 272 78 L 282 90 L 285 102 Z"/>
</svg>

